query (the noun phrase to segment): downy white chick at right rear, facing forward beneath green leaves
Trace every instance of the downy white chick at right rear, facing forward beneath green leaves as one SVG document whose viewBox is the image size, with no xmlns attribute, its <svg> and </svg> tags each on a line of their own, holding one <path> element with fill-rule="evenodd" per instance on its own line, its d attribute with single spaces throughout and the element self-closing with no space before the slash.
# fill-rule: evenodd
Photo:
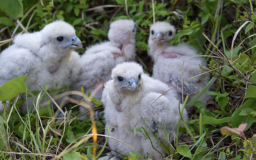
<svg viewBox="0 0 256 160">
<path fill-rule="evenodd" d="M 149 55 L 154 60 L 153 76 L 168 84 L 169 87 L 182 82 L 182 64 L 184 60 L 183 81 L 204 73 L 200 69 L 199 64 L 207 68 L 204 58 L 192 57 L 199 55 L 193 47 L 185 43 L 178 44 L 177 46 L 168 44 L 168 40 L 175 36 L 175 32 L 175 28 L 170 23 L 158 21 L 151 25 L 148 39 Z M 209 74 L 205 74 L 184 82 L 183 94 L 185 96 L 192 92 L 198 94 L 209 82 L 209 78 Z M 176 87 L 176 90 L 180 93 L 177 98 L 182 100 L 181 84 Z M 192 100 L 197 94 L 191 94 L 189 99 Z M 199 100 L 206 105 L 209 99 L 210 95 L 205 93 Z"/>
</svg>

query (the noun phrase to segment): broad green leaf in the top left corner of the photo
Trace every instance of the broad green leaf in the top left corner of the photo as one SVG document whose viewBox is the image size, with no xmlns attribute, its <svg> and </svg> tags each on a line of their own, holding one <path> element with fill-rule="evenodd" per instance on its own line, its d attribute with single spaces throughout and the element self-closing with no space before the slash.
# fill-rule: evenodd
<svg viewBox="0 0 256 160">
<path fill-rule="evenodd" d="M 0 0 L 0 9 L 12 19 L 23 17 L 23 5 L 20 0 Z"/>
</svg>

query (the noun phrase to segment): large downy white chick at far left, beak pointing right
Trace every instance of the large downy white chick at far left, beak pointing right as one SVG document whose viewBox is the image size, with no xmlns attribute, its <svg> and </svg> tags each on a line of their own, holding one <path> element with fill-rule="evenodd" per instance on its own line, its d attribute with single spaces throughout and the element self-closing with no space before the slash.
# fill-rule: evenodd
<svg viewBox="0 0 256 160">
<path fill-rule="evenodd" d="M 0 85 L 17 76 L 28 76 L 39 85 L 47 84 L 48 90 L 70 84 L 70 72 L 79 58 L 75 49 L 82 48 L 75 29 L 62 20 L 53 21 L 37 32 L 15 36 L 13 44 L 0 54 Z M 27 79 L 30 91 L 41 90 L 33 81 Z M 43 86 L 45 88 L 45 86 Z M 25 99 L 25 97 L 23 97 Z M 28 106 L 33 104 L 28 99 Z M 27 112 L 27 107 L 22 106 Z"/>
</svg>

